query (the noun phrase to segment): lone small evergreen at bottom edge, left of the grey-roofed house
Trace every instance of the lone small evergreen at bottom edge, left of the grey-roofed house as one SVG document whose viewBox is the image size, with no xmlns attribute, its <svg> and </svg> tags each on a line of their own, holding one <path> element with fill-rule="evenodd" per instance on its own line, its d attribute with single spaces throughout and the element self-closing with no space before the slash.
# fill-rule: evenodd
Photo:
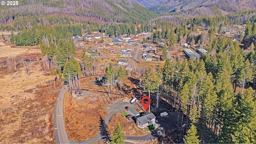
<svg viewBox="0 0 256 144">
<path fill-rule="evenodd" d="M 120 126 L 119 122 L 117 122 L 113 136 L 110 139 L 110 143 L 111 144 L 124 144 L 125 140 L 126 140 L 126 137 L 124 136 L 124 133 L 122 132 L 122 127 Z"/>
</svg>

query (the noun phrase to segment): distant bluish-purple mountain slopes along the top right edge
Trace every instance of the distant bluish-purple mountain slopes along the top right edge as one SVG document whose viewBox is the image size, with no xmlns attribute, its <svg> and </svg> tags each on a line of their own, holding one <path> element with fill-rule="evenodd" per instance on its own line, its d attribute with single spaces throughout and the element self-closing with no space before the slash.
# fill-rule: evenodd
<svg viewBox="0 0 256 144">
<path fill-rule="evenodd" d="M 256 9 L 256 0 L 134 0 L 148 10 L 167 14 L 170 12 L 195 11 L 198 14 L 215 16 Z M 146 2 L 148 3 L 146 3 Z M 145 4 L 146 3 L 146 4 Z M 201 12 L 200 12 L 201 11 Z M 208 13 L 205 13 L 205 12 Z M 213 14 L 210 14 L 213 13 Z M 215 14 L 214 14 L 215 13 Z M 218 13 L 218 14 L 216 14 Z"/>
</svg>

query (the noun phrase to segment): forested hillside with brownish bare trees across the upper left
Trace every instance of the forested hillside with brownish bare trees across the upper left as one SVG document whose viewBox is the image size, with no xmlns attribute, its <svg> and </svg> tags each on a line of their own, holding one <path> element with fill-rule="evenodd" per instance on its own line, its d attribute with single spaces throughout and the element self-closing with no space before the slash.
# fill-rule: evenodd
<svg viewBox="0 0 256 144">
<path fill-rule="evenodd" d="M 132 0 L 23 0 L 18 6 L 1 8 L 1 31 L 37 24 L 77 24 L 85 20 L 138 24 L 157 16 Z"/>
</svg>

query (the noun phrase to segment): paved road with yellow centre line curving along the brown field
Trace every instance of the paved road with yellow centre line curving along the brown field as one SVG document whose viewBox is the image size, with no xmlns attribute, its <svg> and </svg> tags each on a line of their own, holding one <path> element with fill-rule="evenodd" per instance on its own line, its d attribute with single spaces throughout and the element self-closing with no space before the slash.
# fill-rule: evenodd
<svg viewBox="0 0 256 144">
<path fill-rule="evenodd" d="M 69 139 L 65 128 L 65 122 L 64 122 L 64 112 L 63 112 L 63 101 L 64 101 L 64 95 L 66 92 L 67 86 L 62 86 L 58 98 L 57 98 L 57 106 L 56 106 L 56 125 L 57 125 L 57 131 L 58 131 L 58 138 L 60 144 L 68 144 Z"/>
</svg>

